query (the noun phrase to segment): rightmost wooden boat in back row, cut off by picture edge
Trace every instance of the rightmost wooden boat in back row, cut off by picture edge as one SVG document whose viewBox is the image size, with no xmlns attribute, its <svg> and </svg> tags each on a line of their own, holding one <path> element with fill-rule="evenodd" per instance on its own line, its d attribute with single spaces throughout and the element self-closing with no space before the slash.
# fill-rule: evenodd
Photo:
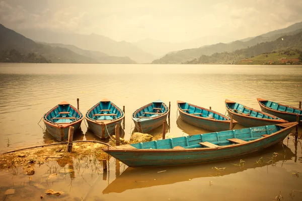
<svg viewBox="0 0 302 201">
<path fill-rule="evenodd" d="M 289 122 L 295 122 L 299 116 L 299 125 L 302 126 L 302 109 L 278 104 L 270 100 L 257 98 L 260 108 L 263 112 L 275 115 Z"/>
</svg>

